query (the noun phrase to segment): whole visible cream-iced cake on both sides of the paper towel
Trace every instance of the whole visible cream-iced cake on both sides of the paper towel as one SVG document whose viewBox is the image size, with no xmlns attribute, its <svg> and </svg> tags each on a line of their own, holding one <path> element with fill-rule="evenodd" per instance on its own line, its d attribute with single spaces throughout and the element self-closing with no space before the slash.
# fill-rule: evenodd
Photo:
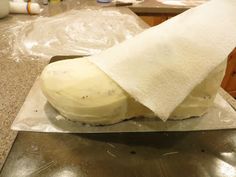
<svg viewBox="0 0 236 177">
<path fill-rule="evenodd" d="M 171 118 L 183 119 L 204 114 L 213 104 L 223 71 L 224 64 L 193 90 Z M 40 81 L 48 101 L 70 120 L 112 124 L 132 117 L 154 117 L 151 110 L 131 98 L 87 58 L 49 64 Z"/>
</svg>

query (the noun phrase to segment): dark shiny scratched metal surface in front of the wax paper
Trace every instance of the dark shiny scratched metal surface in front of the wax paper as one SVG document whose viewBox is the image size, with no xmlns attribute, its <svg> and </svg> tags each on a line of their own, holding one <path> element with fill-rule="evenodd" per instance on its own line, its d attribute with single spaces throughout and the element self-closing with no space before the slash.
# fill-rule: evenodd
<svg viewBox="0 0 236 177">
<path fill-rule="evenodd" d="M 236 131 L 20 133 L 1 177 L 234 177 Z"/>
</svg>

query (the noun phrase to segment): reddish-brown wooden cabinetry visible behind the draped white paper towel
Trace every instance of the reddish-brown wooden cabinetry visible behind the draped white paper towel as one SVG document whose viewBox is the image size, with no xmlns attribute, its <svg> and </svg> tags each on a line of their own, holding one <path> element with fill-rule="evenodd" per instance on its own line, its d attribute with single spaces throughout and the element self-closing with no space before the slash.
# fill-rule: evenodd
<svg viewBox="0 0 236 177">
<path fill-rule="evenodd" d="M 177 14 L 138 14 L 150 26 L 158 25 Z M 229 55 L 224 79 L 221 84 L 230 95 L 236 98 L 236 48 Z"/>
</svg>

